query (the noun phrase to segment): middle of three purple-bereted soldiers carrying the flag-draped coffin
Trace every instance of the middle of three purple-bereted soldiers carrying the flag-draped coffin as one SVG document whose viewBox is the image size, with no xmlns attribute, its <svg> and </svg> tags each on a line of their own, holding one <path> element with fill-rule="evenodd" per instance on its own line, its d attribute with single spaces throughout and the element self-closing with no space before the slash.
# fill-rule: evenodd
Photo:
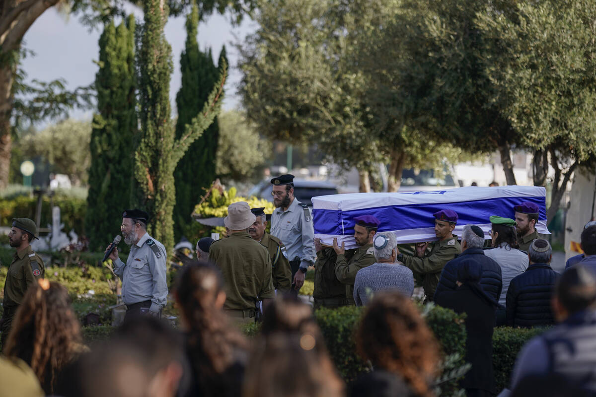
<svg viewBox="0 0 596 397">
<path fill-rule="evenodd" d="M 439 277 L 445 264 L 457 257 L 461 252 L 457 236 L 453 235 L 457 223 L 457 213 L 452 210 L 441 210 L 433 214 L 434 235 L 439 241 L 433 244 L 433 248 L 426 254 L 429 243 L 417 243 L 414 257 L 403 255 L 398 250 L 397 260 L 402 262 L 414 273 L 417 280 L 422 280 L 425 302 L 431 302 L 434 292 L 439 284 Z"/>
</svg>

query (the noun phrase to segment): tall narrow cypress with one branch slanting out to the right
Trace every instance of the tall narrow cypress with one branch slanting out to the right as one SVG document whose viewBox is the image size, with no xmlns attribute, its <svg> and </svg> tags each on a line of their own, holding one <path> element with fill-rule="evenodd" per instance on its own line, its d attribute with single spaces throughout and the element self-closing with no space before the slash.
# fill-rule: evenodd
<svg viewBox="0 0 596 397">
<path fill-rule="evenodd" d="M 167 21 L 165 0 L 144 0 L 144 26 L 139 48 L 139 105 L 141 134 L 135 151 L 135 178 L 141 202 L 152 218 L 148 232 L 171 250 L 174 244 L 174 170 L 191 143 L 210 126 L 221 108 L 225 68 L 203 110 L 185 126 L 178 138 L 170 119 L 169 87 L 172 49 L 163 28 Z"/>
</svg>

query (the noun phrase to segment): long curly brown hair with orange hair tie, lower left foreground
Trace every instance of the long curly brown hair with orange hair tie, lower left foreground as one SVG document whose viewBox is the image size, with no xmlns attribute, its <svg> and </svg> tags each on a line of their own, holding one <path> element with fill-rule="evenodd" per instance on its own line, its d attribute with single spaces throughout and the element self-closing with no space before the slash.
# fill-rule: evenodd
<svg viewBox="0 0 596 397">
<path fill-rule="evenodd" d="M 44 391 L 54 392 L 57 375 L 82 352 L 79 320 L 69 293 L 57 282 L 35 284 L 25 293 L 15 315 L 5 354 L 25 361 Z"/>
</svg>

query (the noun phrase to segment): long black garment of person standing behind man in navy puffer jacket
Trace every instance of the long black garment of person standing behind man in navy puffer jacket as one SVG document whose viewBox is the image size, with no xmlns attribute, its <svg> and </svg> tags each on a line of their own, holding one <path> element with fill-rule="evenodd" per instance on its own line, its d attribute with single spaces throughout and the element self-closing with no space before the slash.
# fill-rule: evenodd
<svg viewBox="0 0 596 397">
<path fill-rule="evenodd" d="M 464 251 L 465 252 L 465 251 Z M 469 286 L 435 295 L 435 302 L 465 317 L 465 362 L 472 364 L 461 386 L 495 392 L 492 370 L 492 333 L 495 326 L 495 306 L 481 298 Z"/>
</svg>

